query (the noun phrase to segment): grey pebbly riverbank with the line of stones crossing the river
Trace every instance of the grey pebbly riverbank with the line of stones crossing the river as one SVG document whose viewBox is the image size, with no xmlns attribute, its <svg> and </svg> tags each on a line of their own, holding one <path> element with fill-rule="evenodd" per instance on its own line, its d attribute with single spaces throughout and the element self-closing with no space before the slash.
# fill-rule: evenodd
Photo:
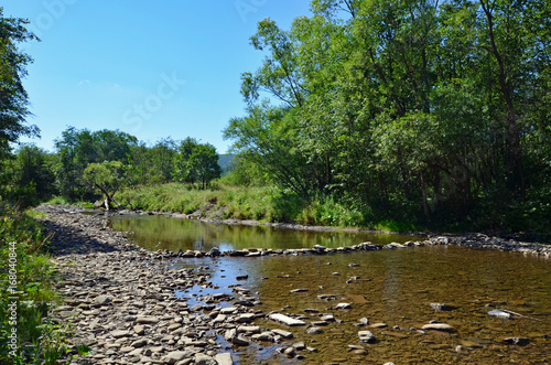
<svg viewBox="0 0 551 365">
<path fill-rule="evenodd" d="M 46 214 L 44 223 L 55 233 L 53 259 L 63 278 L 58 290 L 65 304 L 54 315 L 71 323 L 74 353 L 91 350 L 90 355 L 72 359 L 73 364 L 233 364 L 231 350 L 255 342 L 279 343 L 284 355 L 307 357 L 311 350 L 294 341 L 291 332 L 255 325 L 259 319 L 294 325 L 296 319 L 256 310 L 257 298 L 245 288 L 234 286 L 231 294 L 220 290 L 202 296 L 196 304 L 179 298 L 176 291 L 210 288 L 216 292 L 219 288 L 210 282 L 206 267 L 171 269 L 170 262 L 177 258 L 327 255 L 450 244 L 551 256 L 548 246 L 484 235 L 435 236 L 403 245 L 363 243 L 335 249 L 148 251 L 131 245 L 125 233 L 108 228 L 104 216 L 80 214 L 69 206 L 43 205 L 37 211 Z M 370 339 L 366 333 L 358 336 L 360 341 Z"/>
</svg>

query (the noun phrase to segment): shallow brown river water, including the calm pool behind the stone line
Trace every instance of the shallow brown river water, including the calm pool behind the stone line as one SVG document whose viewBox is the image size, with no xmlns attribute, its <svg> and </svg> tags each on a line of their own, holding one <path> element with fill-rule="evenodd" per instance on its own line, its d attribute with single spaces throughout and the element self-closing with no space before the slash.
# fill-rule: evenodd
<svg viewBox="0 0 551 365">
<path fill-rule="evenodd" d="M 299 248 L 315 244 L 338 247 L 365 240 L 374 244 L 412 237 L 366 236 L 360 233 L 313 233 L 269 227 L 207 225 L 159 216 L 115 217 L 112 227 L 136 232 L 147 248 L 208 250 L 250 247 Z M 293 332 L 291 343 L 303 341 L 314 351 L 298 352 L 304 359 L 287 358 L 269 343 L 234 348 L 242 364 L 549 364 L 551 363 L 551 262 L 521 254 L 476 250 L 455 246 L 412 247 L 326 256 L 185 259 L 175 267 L 202 266 L 219 287 L 230 292 L 239 285 L 256 293 L 264 313 L 300 314 L 306 323 L 332 314 L 336 321 L 320 326 L 284 328 L 257 321 L 264 329 Z M 237 277 L 248 275 L 247 280 Z M 301 292 L 291 292 L 303 289 Z M 207 289 L 195 288 L 196 296 Z M 318 299 L 321 294 L 336 300 Z M 431 303 L 451 307 L 435 311 Z M 350 309 L 335 309 L 349 303 Z M 488 315 L 494 309 L 512 311 L 515 319 Z M 306 311 L 307 310 L 307 311 Z M 317 311 L 317 312 L 315 312 Z M 367 319 L 367 326 L 358 326 Z M 418 331 L 437 321 L 454 331 Z M 372 324 L 385 323 L 383 328 Z M 374 344 L 358 341 L 369 330 Z M 527 339 L 509 344 L 507 337 Z"/>
</svg>

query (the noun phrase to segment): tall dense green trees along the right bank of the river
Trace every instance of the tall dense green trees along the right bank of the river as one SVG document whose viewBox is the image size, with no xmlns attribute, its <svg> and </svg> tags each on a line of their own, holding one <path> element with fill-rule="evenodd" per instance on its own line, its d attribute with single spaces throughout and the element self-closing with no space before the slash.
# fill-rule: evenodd
<svg viewBox="0 0 551 365">
<path fill-rule="evenodd" d="M 225 129 L 248 169 L 369 221 L 548 229 L 551 6 L 313 0 L 241 75 Z M 244 169 L 246 169 L 244 167 Z"/>
</svg>

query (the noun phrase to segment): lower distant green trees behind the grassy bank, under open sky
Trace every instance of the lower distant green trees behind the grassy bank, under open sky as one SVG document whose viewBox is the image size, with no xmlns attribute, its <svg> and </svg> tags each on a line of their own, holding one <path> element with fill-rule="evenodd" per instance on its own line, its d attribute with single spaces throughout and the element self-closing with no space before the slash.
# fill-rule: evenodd
<svg viewBox="0 0 551 365">
<path fill-rule="evenodd" d="M 0 162 L 0 196 L 28 206 L 54 196 L 67 202 L 102 196 L 114 203 L 122 187 L 168 182 L 206 189 L 222 174 L 214 146 L 191 137 L 149 146 L 120 130 L 68 127 L 54 152 L 22 144 Z"/>
</svg>

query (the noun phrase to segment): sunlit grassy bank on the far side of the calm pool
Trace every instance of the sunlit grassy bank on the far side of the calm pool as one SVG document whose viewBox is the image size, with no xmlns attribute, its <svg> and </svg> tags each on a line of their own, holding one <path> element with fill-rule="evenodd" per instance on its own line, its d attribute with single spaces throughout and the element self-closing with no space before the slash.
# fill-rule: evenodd
<svg viewBox="0 0 551 365">
<path fill-rule="evenodd" d="M 273 186 L 218 185 L 195 190 L 170 183 L 127 189 L 116 196 L 122 205 L 143 211 L 197 214 L 223 219 L 253 219 L 303 225 L 414 230 L 412 225 L 377 222 L 369 210 L 318 196 L 305 200 Z"/>
</svg>

